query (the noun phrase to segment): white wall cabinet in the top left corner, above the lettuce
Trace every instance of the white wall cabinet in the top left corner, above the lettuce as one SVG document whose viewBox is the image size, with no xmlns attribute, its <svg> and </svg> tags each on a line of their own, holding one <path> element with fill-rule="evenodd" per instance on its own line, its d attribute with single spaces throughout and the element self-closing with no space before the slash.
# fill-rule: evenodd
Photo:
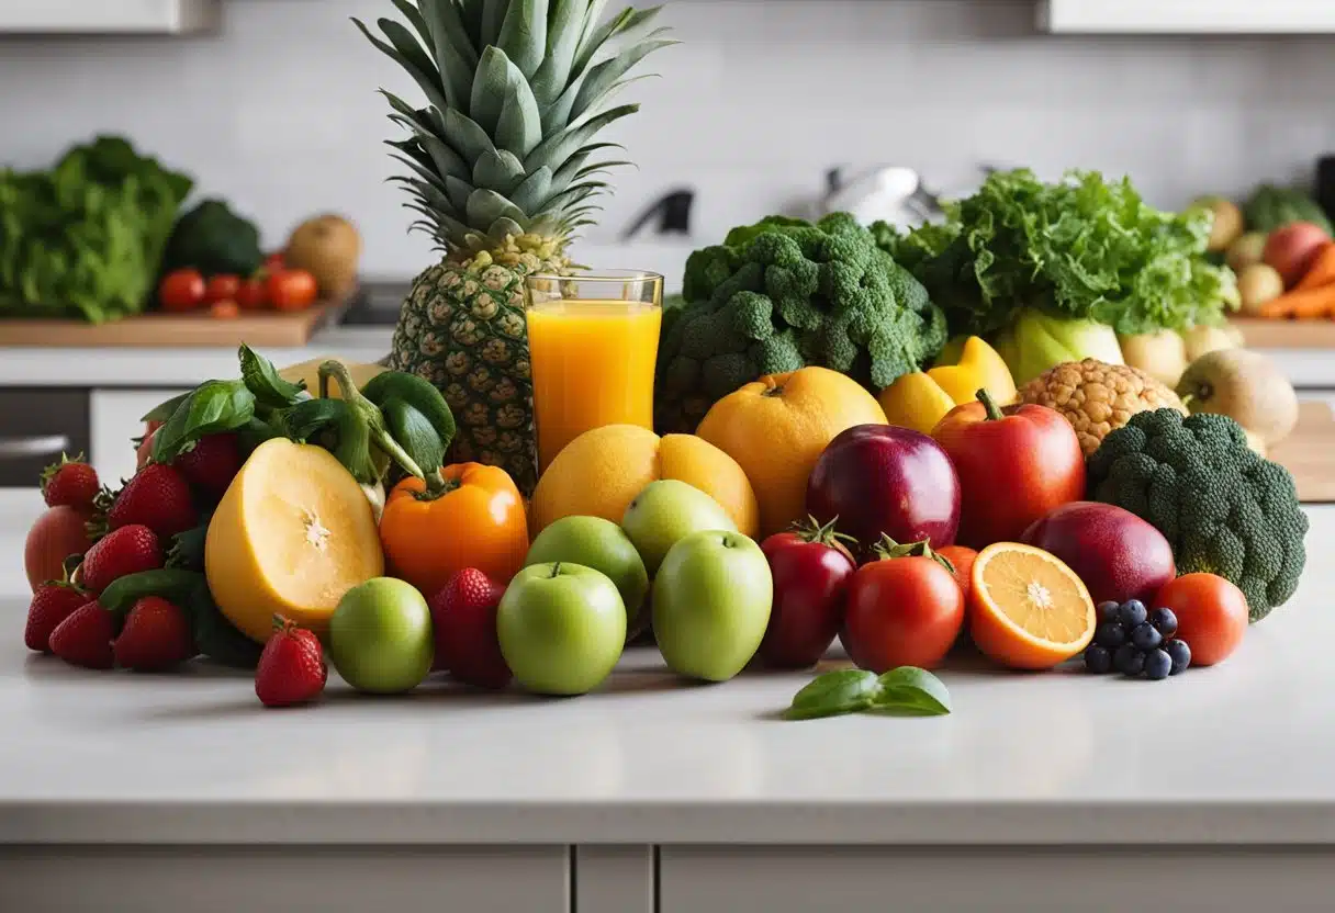
<svg viewBox="0 0 1335 913">
<path fill-rule="evenodd" d="M 0 0 L 0 35 L 192 35 L 222 24 L 222 0 Z"/>
</svg>

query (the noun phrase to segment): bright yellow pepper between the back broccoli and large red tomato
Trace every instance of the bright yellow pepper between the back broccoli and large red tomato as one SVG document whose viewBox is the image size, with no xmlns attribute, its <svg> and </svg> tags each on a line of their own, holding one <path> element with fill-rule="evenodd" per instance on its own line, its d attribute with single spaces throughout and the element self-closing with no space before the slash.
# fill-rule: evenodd
<svg viewBox="0 0 1335 913">
<path fill-rule="evenodd" d="M 1000 404 L 1016 400 L 1015 380 L 1005 362 L 981 338 L 969 336 L 947 344 L 930 371 L 900 376 L 877 400 L 890 424 L 932 434 L 947 412 L 977 399 L 981 387 Z"/>
</svg>

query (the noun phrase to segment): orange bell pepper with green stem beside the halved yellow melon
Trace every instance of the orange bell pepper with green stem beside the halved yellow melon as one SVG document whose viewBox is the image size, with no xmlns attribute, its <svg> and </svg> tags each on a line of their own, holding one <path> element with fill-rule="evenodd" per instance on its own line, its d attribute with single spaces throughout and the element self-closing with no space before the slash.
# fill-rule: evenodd
<svg viewBox="0 0 1335 913">
<path fill-rule="evenodd" d="M 509 582 L 529 553 L 529 521 L 514 481 L 481 463 L 454 463 L 441 475 L 439 494 L 418 478 L 390 493 L 380 518 L 390 573 L 429 599 L 465 567 Z"/>
</svg>

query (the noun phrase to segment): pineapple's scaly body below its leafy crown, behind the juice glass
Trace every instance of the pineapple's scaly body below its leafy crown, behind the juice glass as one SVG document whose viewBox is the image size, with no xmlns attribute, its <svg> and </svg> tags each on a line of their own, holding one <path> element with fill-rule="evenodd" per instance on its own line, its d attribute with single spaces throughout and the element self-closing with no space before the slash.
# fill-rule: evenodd
<svg viewBox="0 0 1335 913">
<path fill-rule="evenodd" d="M 458 423 L 449 459 L 499 466 L 529 497 L 538 485 L 525 278 L 569 260 L 521 252 L 442 260 L 413 280 L 387 366 L 430 380 Z"/>
</svg>

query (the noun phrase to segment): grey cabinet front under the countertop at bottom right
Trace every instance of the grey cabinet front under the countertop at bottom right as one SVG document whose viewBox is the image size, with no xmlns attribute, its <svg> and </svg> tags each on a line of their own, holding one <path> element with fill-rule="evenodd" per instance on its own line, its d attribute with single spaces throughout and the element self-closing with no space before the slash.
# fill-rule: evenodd
<svg viewBox="0 0 1335 913">
<path fill-rule="evenodd" d="M 1328 913 L 1335 896 L 1332 849 L 663 846 L 659 853 L 658 913 L 1121 913 L 1147 902 L 1173 912 Z"/>
</svg>

